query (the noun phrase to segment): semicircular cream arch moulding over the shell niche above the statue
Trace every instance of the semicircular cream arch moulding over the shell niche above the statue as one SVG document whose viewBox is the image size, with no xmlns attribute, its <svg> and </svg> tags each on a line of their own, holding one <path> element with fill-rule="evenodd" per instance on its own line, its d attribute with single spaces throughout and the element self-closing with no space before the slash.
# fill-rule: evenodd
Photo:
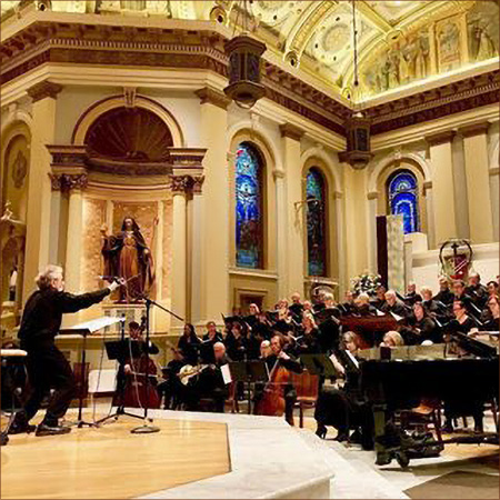
<svg viewBox="0 0 500 500">
<path fill-rule="evenodd" d="M 132 102 L 130 102 L 132 101 Z M 151 112 L 156 117 L 158 117 L 168 128 L 171 134 L 172 144 L 174 148 L 184 147 L 184 138 L 182 134 L 182 130 L 173 117 L 167 108 L 156 102 L 152 99 L 149 99 L 143 96 L 130 96 L 129 99 L 126 96 L 116 96 L 104 99 L 102 101 L 96 102 L 89 109 L 87 109 L 83 114 L 78 120 L 73 134 L 71 138 L 71 142 L 76 146 L 86 144 L 86 139 L 88 137 L 89 130 L 92 124 L 101 117 L 106 117 L 108 113 L 111 113 L 117 109 L 142 109 Z"/>
</svg>

